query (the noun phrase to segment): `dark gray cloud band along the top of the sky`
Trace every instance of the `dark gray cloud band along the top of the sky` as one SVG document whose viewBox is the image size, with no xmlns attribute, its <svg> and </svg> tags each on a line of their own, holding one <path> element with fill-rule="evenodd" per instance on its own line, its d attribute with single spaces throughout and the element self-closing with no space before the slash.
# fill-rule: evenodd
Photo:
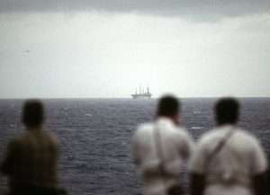
<svg viewBox="0 0 270 195">
<path fill-rule="evenodd" d="M 188 16 L 201 20 L 270 12 L 269 0 L 1 0 L 0 12 L 104 11 Z"/>
</svg>

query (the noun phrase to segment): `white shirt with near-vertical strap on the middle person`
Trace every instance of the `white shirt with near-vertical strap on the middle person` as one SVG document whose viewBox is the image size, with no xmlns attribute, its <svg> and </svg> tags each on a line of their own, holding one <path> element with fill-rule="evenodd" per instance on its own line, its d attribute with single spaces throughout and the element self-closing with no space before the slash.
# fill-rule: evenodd
<svg viewBox="0 0 270 195">
<path fill-rule="evenodd" d="M 159 131 L 162 148 L 162 164 L 166 176 L 160 175 L 157 155 L 157 137 Z M 172 120 L 159 118 L 154 123 L 140 125 L 131 140 L 131 155 L 142 173 L 144 194 L 165 195 L 166 189 L 179 184 L 179 175 L 183 160 L 193 151 L 193 140 L 184 129 L 175 126 Z"/>
</svg>

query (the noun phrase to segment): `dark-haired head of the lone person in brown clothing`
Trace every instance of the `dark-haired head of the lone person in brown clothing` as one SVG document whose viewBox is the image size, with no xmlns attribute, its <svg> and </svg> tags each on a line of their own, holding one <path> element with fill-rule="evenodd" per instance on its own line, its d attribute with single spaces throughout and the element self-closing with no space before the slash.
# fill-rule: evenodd
<svg viewBox="0 0 270 195">
<path fill-rule="evenodd" d="M 39 100 L 28 100 L 23 104 L 23 124 L 26 127 L 38 127 L 44 120 L 43 104 Z"/>
</svg>

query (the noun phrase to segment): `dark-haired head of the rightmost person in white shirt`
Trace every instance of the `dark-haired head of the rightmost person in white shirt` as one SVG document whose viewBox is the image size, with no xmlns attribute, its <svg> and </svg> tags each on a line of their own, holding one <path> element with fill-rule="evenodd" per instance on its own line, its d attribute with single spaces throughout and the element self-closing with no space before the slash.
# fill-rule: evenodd
<svg viewBox="0 0 270 195">
<path fill-rule="evenodd" d="M 215 105 L 215 117 L 219 125 L 238 122 L 239 102 L 232 97 L 221 98 Z"/>
</svg>

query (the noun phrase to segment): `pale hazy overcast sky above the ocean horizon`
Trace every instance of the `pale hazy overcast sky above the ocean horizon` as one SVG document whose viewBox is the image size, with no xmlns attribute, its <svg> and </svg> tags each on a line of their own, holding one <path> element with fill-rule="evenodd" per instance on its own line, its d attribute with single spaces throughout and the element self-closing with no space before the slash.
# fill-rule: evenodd
<svg viewBox="0 0 270 195">
<path fill-rule="evenodd" d="M 1 0 L 0 98 L 270 96 L 269 0 Z"/>
</svg>

